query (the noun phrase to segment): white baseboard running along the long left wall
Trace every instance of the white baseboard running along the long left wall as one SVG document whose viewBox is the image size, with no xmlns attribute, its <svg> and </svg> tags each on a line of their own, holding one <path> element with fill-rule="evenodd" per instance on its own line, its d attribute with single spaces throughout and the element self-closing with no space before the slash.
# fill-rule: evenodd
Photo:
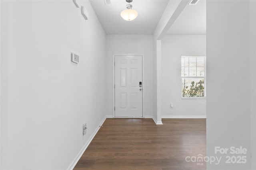
<svg viewBox="0 0 256 170">
<path fill-rule="evenodd" d="M 94 131 L 94 133 L 92 133 L 91 137 L 89 138 L 89 140 L 86 142 L 86 144 L 84 145 L 84 147 L 82 147 L 82 149 L 80 150 L 79 154 L 76 156 L 76 158 L 73 160 L 73 162 L 70 164 L 70 166 L 68 167 L 68 170 L 73 170 L 74 167 L 76 166 L 78 160 L 81 158 L 81 156 L 84 154 L 84 151 L 87 149 L 87 147 L 89 146 L 89 144 L 91 143 L 92 139 L 94 138 L 94 136 L 96 135 L 96 133 L 99 131 L 100 126 L 102 126 L 102 124 L 104 123 L 104 121 L 106 120 L 106 118 L 108 118 L 107 116 L 104 117 L 104 119 L 100 122 L 100 125 L 98 125 L 98 128 Z M 111 116 L 112 118 L 112 116 Z"/>
</svg>

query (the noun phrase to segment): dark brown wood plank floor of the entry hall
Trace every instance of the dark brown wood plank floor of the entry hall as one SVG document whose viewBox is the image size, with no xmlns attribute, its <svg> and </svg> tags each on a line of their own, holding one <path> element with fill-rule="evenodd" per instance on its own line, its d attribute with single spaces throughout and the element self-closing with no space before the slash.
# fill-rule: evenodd
<svg viewBox="0 0 256 170">
<path fill-rule="evenodd" d="M 74 170 L 206 170 L 206 119 L 106 119 Z"/>
</svg>

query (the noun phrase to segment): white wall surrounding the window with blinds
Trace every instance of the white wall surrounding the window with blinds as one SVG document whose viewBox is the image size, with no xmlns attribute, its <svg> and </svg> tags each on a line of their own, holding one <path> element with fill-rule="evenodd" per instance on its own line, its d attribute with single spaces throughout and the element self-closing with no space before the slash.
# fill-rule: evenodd
<svg viewBox="0 0 256 170">
<path fill-rule="evenodd" d="M 181 55 L 205 56 L 206 35 L 165 35 L 162 38 L 162 117 L 204 117 L 206 98 L 181 98 Z"/>
</svg>

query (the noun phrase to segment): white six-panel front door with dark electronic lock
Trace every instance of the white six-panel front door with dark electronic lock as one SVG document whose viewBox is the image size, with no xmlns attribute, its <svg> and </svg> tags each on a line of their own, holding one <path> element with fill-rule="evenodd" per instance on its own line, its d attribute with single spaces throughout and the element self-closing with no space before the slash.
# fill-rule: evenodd
<svg viewBox="0 0 256 170">
<path fill-rule="evenodd" d="M 115 56 L 115 117 L 142 117 L 142 56 Z"/>
</svg>

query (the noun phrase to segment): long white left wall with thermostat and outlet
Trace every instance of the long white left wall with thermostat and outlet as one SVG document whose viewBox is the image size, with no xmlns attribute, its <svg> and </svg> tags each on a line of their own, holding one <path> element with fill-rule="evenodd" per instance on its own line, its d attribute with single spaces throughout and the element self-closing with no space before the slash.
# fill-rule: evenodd
<svg viewBox="0 0 256 170">
<path fill-rule="evenodd" d="M 88 21 L 72 0 L 1 2 L 1 169 L 66 169 L 105 117 L 106 35 L 83 4 Z"/>
</svg>

